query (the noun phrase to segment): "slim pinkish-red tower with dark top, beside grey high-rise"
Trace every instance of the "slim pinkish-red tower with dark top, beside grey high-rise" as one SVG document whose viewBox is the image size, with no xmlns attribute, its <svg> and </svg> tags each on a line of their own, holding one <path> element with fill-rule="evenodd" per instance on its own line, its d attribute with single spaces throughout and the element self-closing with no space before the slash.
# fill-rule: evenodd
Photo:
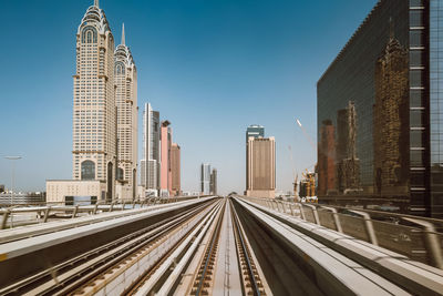
<svg viewBox="0 0 443 296">
<path fill-rule="evenodd" d="M 172 131 L 169 122 L 162 121 L 161 127 L 161 196 L 169 196 L 172 191 L 172 174 L 171 174 L 171 142 Z"/>
</svg>

